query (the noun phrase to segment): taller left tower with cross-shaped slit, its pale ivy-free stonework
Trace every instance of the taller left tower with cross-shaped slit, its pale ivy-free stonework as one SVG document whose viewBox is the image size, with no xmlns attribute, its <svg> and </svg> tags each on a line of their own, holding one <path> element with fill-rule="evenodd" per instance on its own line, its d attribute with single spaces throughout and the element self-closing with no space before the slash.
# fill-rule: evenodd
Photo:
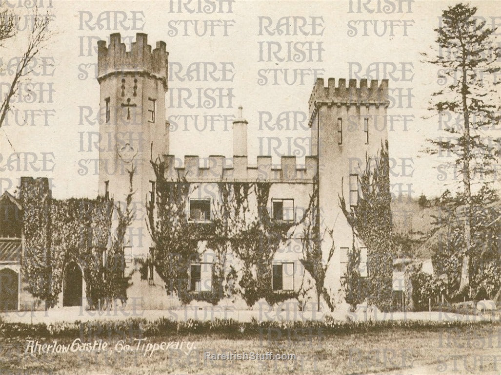
<svg viewBox="0 0 501 375">
<path fill-rule="evenodd" d="M 146 254 L 151 246 L 145 224 L 145 204 L 154 191 L 155 175 L 150 160 L 168 153 L 165 122 L 167 56 L 164 41 L 152 50 L 148 36 L 136 34 L 130 51 L 120 33 L 110 44 L 98 41 L 100 85 L 99 194 L 124 202 L 129 192 L 129 171 L 136 218 L 129 227 L 126 246 L 130 254 Z M 123 203 L 122 203 L 123 204 Z"/>
</svg>

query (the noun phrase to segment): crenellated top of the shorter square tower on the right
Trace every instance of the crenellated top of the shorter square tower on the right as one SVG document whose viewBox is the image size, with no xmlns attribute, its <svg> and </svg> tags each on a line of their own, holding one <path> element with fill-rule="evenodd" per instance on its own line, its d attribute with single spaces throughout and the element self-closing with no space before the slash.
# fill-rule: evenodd
<svg viewBox="0 0 501 375">
<path fill-rule="evenodd" d="M 341 78 L 336 87 L 335 79 L 329 78 L 325 87 L 324 78 L 317 78 L 308 101 L 310 118 L 318 103 L 388 106 L 388 79 L 381 80 L 380 85 L 376 79 L 372 79 L 370 86 L 367 86 L 367 79 L 361 79 L 358 87 L 357 80 L 350 79 L 346 87 L 346 79 Z"/>
</svg>

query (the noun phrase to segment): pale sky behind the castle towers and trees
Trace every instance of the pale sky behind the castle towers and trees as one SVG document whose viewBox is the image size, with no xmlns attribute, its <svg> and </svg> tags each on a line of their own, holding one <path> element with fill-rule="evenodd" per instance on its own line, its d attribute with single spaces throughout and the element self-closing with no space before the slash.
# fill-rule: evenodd
<svg viewBox="0 0 501 375">
<path fill-rule="evenodd" d="M 40 1 L 40 0 L 39 0 Z M 13 1 L 14 2 L 14 1 Z M 196 3 L 196 1 L 193 1 Z M 366 3 L 366 1 L 363 1 Z M 95 79 L 92 64 L 97 63 L 97 52 L 90 50 L 88 45 L 97 47 L 97 40 L 106 39 L 110 33 L 120 32 L 122 38 L 130 37 L 135 39 L 136 32 L 148 34 L 148 42 L 153 47 L 158 40 L 164 40 L 169 51 L 169 62 L 171 66 L 179 68 L 186 72 L 186 67 L 192 62 L 204 61 L 215 63 L 221 66 L 221 63 L 232 63 L 234 76 L 232 81 L 184 81 L 181 82 L 176 76 L 169 80 L 169 91 L 167 92 L 167 118 L 169 116 L 179 115 L 221 115 L 229 116 L 237 114 L 238 105 L 243 106 L 243 115 L 248 120 L 248 154 L 249 163 L 256 163 L 258 154 L 271 154 L 274 162 L 280 162 L 280 156 L 273 151 L 277 139 L 280 139 L 282 145 L 278 151 L 283 154 L 298 152 L 298 162 L 301 162 L 305 156 L 303 147 L 307 144 L 302 138 L 308 137 L 309 131 L 306 128 L 298 126 L 297 129 L 268 129 L 260 126 L 260 112 L 268 111 L 273 118 L 277 117 L 282 111 L 296 111 L 297 118 L 302 119 L 301 112 L 308 115 L 308 99 L 313 88 L 314 79 L 312 75 L 305 75 L 303 84 L 288 85 L 284 83 L 283 75 L 279 77 L 279 84 L 272 84 L 273 73 L 268 72 L 269 79 L 267 84 L 261 85 L 260 77 L 265 73 L 260 69 L 283 68 L 288 69 L 288 74 L 294 74 L 294 69 L 303 69 L 296 71 L 312 72 L 313 69 L 320 71 L 325 78 L 334 77 L 350 78 L 350 66 L 357 68 L 361 66 L 363 75 L 369 64 L 380 62 L 379 79 L 384 78 L 382 62 L 387 62 L 386 67 L 391 71 L 395 65 L 398 69 L 393 76 L 386 76 L 390 79 L 389 87 L 391 90 L 407 93 L 411 89 L 413 95 L 408 107 L 408 98 L 403 97 L 402 107 L 388 108 L 388 115 L 394 116 L 414 116 L 412 122 L 404 128 L 402 120 L 395 122 L 394 128 L 388 132 L 390 144 L 390 157 L 396 159 L 396 166 L 391 175 L 392 183 L 401 183 L 404 189 L 407 184 L 412 184 L 414 196 L 419 196 L 421 192 L 426 195 L 440 194 L 446 187 L 454 189 L 457 181 L 451 176 L 445 181 L 439 180 L 439 173 L 434 168 L 442 162 L 429 155 L 420 152 L 426 146 L 425 139 L 439 134 L 437 132 L 437 117 L 423 119 L 423 116 L 429 116 L 432 113 L 426 110 L 431 92 L 438 89 L 437 67 L 428 63 L 421 62 L 420 52 L 430 51 L 433 45 L 435 33 L 433 28 L 438 26 L 438 16 L 442 9 L 447 5 L 455 4 L 457 1 L 421 1 L 416 0 L 411 3 L 411 11 L 408 10 L 408 1 L 402 1 L 401 5 L 404 12 L 386 13 L 368 13 L 367 11 L 356 12 L 358 1 L 352 2 L 350 12 L 349 1 L 242 1 L 239 0 L 232 4 L 232 13 L 189 13 L 169 12 L 170 1 L 53 1 L 53 8 L 49 10 L 54 12 L 55 19 L 52 24 L 57 34 L 51 39 L 50 44 L 40 54 L 47 57 L 47 61 L 55 61 L 54 68 L 47 68 L 47 75 L 32 78 L 35 92 L 40 97 L 39 88 L 46 89 L 43 92 L 44 101 L 47 101 L 52 84 L 53 102 L 39 103 L 38 98 L 35 103 L 14 103 L 20 111 L 24 109 L 42 109 L 47 113 L 54 114 L 49 117 L 48 126 L 44 126 L 43 117 L 38 117 L 35 126 L 17 125 L 11 117 L 11 123 L 0 129 L 0 146 L 2 160 L 0 166 L 5 168 L 0 171 L 2 176 L 1 190 L 10 187 L 10 180 L 17 184 L 17 178 L 22 175 L 48 176 L 54 179 L 53 195 L 58 198 L 67 198 L 70 196 L 89 196 L 93 197 L 97 193 L 97 174 L 89 170 L 88 173 L 79 174 L 79 163 L 82 159 L 97 159 L 97 150 L 81 150 L 80 137 L 81 132 L 98 131 L 98 125 L 88 123 L 79 124 L 80 108 L 79 106 L 90 106 L 94 111 L 98 109 L 99 84 Z M 44 1 L 47 6 L 48 0 Z M 178 1 L 174 4 L 177 6 Z M 398 1 L 396 10 L 398 10 Z M 501 3 L 499 1 L 470 1 L 478 7 L 478 15 L 487 18 L 488 22 L 496 22 L 501 26 Z M 372 0 L 368 7 L 377 11 L 376 0 Z M 381 8 L 386 2 L 381 1 Z M 202 1 L 202 6 L 207 5 Z M 44 8 L 41 8 L 44 9 Z M 19 10 L 19 9 L 16 9 Z M 95 29 L 91 30 L 87 23 L 82 20 L 89 20 L 91 25 L 95 25 L 96 19 L 104 11 L 118 11 L 118 17 L 125 12 L 127 21 L 124 24 L 118 22 L 115 27 L 113 18 L 111 24 L 102 22 Z M 223 3 L 223 11 L 227 10 L 227 3 Z M 82 13 L 83 12 L 83 13 Z M 134 13 L 135 12 L 135 13 Z M 113 13 L 112 13 L 113 14 Z M 308 23 L 311 23 L 311 17 L 317 17 L 316 22 L 319 26 L 317 33 L 323 30 L 323 35 L 294 35 L 294 28 L 290 29 L 289 35 L 260 35 L 260 16 L 271 17 L 276 25 L 280 17 L 300 16 L 306 17 Z M 491 18 L 495 17 L 497 18 Z M 323 17 L 320 20 L 318 17 Z M 135 25 L 133 24 L 135 18 Z M 203 20 L 213 21 L 214 36 L 196 36 L 194 35 L 193 22 L 188 22 L 187 31 L 190 36 L 184 36 L 184 20 Z M 298 24 L 301 24 L 301 18 L 296 18 Z M 377 32 L 382 33 L 381 22 L 391 20 L 394 25 L 394 35 L 390 35 L 389 23 L 386 34 L 377 36 L 374 33 L 374 24 L 368 23 L 367 33 L 364 36 L 363 22 L 360 20 L 378 20 Z M 264 20 L 266 21 L 266 20 Z M 292 20 L 291 20 L 292 21 Z M 210 23 L 209 23 L 210 24 Z M 227 36 L 224 36 L 224 24 L 226 24 Z M 292 23 L 293 24 L 293 23 Z M 404 24 L 406 28 L 404 28 Z M 83 26 L 83 27 L 81 27 Z M 141 29 L 130 29 L 136 26 Z M 350 27 L 351 26 L 351 27 Z M 350 36 L 353 29 L 357 29 L 357 34 Z M 174 32 L 177 29 L 177 34 Z M 201 28 L 200 28 L 201 30 Z M 312 31 L 312 27 L 306 26 L 305 30 Z M 351 31 L 350 31 L 351 30 Z M 404 35 L 406 32 L 406 36 Z M 25 31 L 24 31 L 25 32 Z M 498 30 L 501 33 L 501 27 Z M 6 43 L 3 50 L 3 65 L 6 67 L 6 59 L 19 54 L 19 49 L 23 45 L 23 32 L 16 40 Z M 499 35 L 498 35 L 499 38 Z M 500 39 L 498 39 L 500 40 Z M 127 42 L 127 40 L 125 40 Z M 314 51 L 314 61 L 260 61 L 260 46 L 267 51 L 267 41 L 280 42 L 282 47 L 287 47 L 287 42 L 302 41 L 311 42 L 312 45 L 322 43 L 321 61 L 318 53 Z M 260 42 L 262 44 L 260 44 Z M 501 42 L 501 41 L 500 41 Z M 6 56 L 6 57 L 4 57 Z M 261 59 L 267 59 L 266 53 L 262 54 Z M 404 65 L 402 65 L 402 63 Z M 402 66 L 407 71 L 402 76 Z M 307 70 L 308 69 L 308 70 Z M 322 70 L 323 69 L 323 70 Z M 87 72 L 85 76 L 83 72 Z M 5 71 L 4 71 L 5 74 Z M 80 75 L 79 74 L 83 74 Z M 232 75 L 232 74 L 231 74 Z M 289 75 L 290 79 L 291 75 Z M 363 77 L 363 76 L 362 76 Z M 392 77 L 394 79 L 392 79 Z M 411 78 L 412 77 L 412 78 Z M 6 78 L 4 76 L 4 78 Z M 356 76 L 351 76 L 356 78 Z M 402 79 L 405 79 L 403 81 Z M 8 81 L 8 79 L 2 79 Z M 196 91 L 197 87 L 202 89 L 222 87 L 224 90 L 232 89 L 234 98 L 231 107 L 223 108 L 186 108 L 170 107 L 169 95 L 172 93 L 175 98 L 179 87 L 188 87 Z M 2 87 L 5 90 L 5 87 Z M 3 92 L 3 91 L 2 91 Z M 3 94 L 3 93 L 2 93 Z M 19 101 L 19 100 L 18 100 Z M 227 106 L 227 100 L 223 100 L 224 106 Z M 196 105 L 196 102 L 195 102 Z M 23 112 L 18 112 L 23 113 Z M 43 112 L 41 112 L 43 113 Z M 262 117 L 264 114 L 262 114 Z M 170 117 L 171 121 L 176 118 Z M 396 117 L 394 117 L 396 118 Z M 402 118 L 402 117 L 400 117 Z M 19 122 L 22 122 L 21 120 Z M 307 120 L 306 120 L 307 123 Z M 207 129 L 197 130 L 191 121 L 188 124 L 188 130 L 177 129 L 170 135 L 170 153 L 177 157 L 183 157 L 185 154 L 198 154 L 201 157 L 209 154 L 223 154 L 227 157 L 231 155 L 231 125 L 228 123 L 228 131 L 224 130 L 222 123 L 216 123 L 214 131 Z M 294 123 L 292 123 L 294 125 Z M 260 128 L 261 127 L 261 128 Z M 306 127 L 306 125 L 305 125 Z M 496 130 L 497 131 L 497 130 Z M 499 131 L 497 131 L 499 133 Z M 442 133 L 442 135 L 445 135 Z M 499 135 L 499 134 L 497 134 Z M 87 137 L 87 135 L 85 135 Z M 275 138 L 274 138 L 275 137 Z M 10 142 L 9 142 L 9 140 Z M 288 141 L 291 145 L 288 145 Z M 270 145 L 270 142 L 271 145 Z M 12 143 L 12 145 L 10 144 Z M 273 147 L 272 147 L 273 146 Z M 261 148 L 261 150 L 260 150 Z M 43 168 L 43 153 L 45 153 L 46 169 L 53 170 L 34 170 L 33 167 L 25 168 L 24 158 L 22 158 L 19 169 L 13 160 L 15 152 L 35 152 L 38 161 L 34 166 Z M 54 153 L 54 157 L 51 152 Z M 307 154 L 309 151 L 307 151 Z M 407 175 L 402 176 L 402 159 L 406 165 Z M 92 161 L 87 165 L 90 167 Z M 93 165 L 93 163 L 92 163 Z M 9 167 L 15 170 L 9 170 Z M 412 171 L 412 173 L 410 173 Z M 399 174 L 399 175 L 397 175 Z M 396 192 L 397 189 L 394 189 Z"/>
</svg>

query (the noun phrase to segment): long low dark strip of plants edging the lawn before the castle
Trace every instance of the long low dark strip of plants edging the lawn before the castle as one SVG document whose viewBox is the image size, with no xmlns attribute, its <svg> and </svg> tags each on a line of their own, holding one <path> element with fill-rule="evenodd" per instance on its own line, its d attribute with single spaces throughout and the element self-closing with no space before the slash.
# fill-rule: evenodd
<svg viewBox="0 0 501 375">
<path fill-rule="evenodd" d="M 47 326 L 45 323 L 0 322 L 0 337 L 47 337 L 47 338 L 124 338 L 144 336 L 175 336 L 188 334 L 214 335 L 236 339 L 260 336 L 269 329 L 289 332 L 288 337 L 296 337 L 298 332 L 308 330 L 319 336 L 330 334 L 353 334 L 377 332 L 387 329 L 442 329 L 448 327 L 470 327 L 478 324 L 493 324 L 492 321 L 473 322 L 471 320 L 335 320 L 326 316 L 324 320 L 306 321 L 258 321 L 238 322 L 233 319 L 174 321 L 165 317 L 148 321 L 144 318 L 129 318 L 120 321 L 93 320 L 86 322 L 59 322 Z M 302 333 L 301 333 L 302 334 Z M 301 337 L 299 334 L 299 337 Z"/>
</svg>

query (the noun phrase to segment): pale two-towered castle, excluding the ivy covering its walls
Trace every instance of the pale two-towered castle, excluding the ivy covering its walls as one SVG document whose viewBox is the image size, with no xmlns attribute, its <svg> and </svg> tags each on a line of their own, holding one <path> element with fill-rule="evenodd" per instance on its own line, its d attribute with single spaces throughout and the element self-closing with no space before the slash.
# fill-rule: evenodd
<svg viewBox="0 0 501 375">
<path fill-rule="evenodd" d="M 331 236 L 322 236 L 320 244 L 323 260 L 331 258 L 325 277 L 326 289 L 334 298 L 342 299 L 342 277 L 353 245 L 360 249 L 360 274 L 370 277 L 365 264 L 367 248 L 361 240 L 354 238 L 339 206 L 339 196 L 344 196 L 349 206 L 357 205 L 359 178 L 366 156 L 377 155 L 387 141 L 388 81 L 378 84 L 372 80 L 368 85 L 365 79 L 359 82 L 350 79 L 347 86 L 345 79 L 339 79 L 336 85 L 334 78 L 329 78 L 326 86 L 324 79 L 317 79 L 308 102 L 312 155 L 306 156 L 304 164 L 298 164 L 295 156 L 283 156 L 280 165 L 272 164 L 269 155 L 249 160 L 247 128 L 252 124 L 243 118 L 239 108 L 233 120 L 232 157 L 211 155 L 200 166 L 201 158 L 187 155 L 183 165 L 179 165 L 175 156 L 169 154 L 169 123 L 165 108 L 167 59 L 166 43 L 158 41 L 152 49 L 144 33 L 137 33 L 130 51 L 121 42 L 119 33 L 111 34 L 109 45 L 104 40 L 98 42 L 100 134 L 101 139 L 107 139 L 107 144 L 100 147 L 98 192 L 102 197 L 123 201 L 130 188 L 128 171 L 134 169 L 134 199 L 143 205 L 136 207 L 139 219 L 131 223 L 124 243 L 125 273 L 131 273 L 133 281 L 127 296 L 140 296 L 144 308 L 166 308 L 178 303 L 172 302 L 166 293 L 165 277 L 160 277 L 154 266 L 150 265 L 147 280 L 140 279 L 139 273 L 133 272 L 134 267 L 137 268 L 133 259 L 149 259 L 153 264 L 159 253 L 148 220 L 144 218 L 148 205 L 160 203 L 155 202 L 157 175 L 151 161 L 162 165 L 165 181 L 182 180 L 188 184 L 185 213 L 187 220 L 194 223 L 210 223 L 218 216 L 214 210 L 220 206 L 221 183 L 259 181 L 269 184 L 266 207 L 271 221 L 289 223 L 293 228 L 287 243 L 280 244 L 271 260 L 269 288 L 272 292 L 298 291 L 304 277 L 311 278 L 301 261 L 302 242 L 295 239 L 300 237 L 298 233 L 302 232 L 304 224 L 299 222 L 315 193 L 320 233 L 332 233 Z M 7 205 L 20 205 L 10 194 L 4 194 L 4 201 Z M 256 197 L 249 198 L 249 202 L 257 204 Z M 10 272 L 11 276 L 12 272 L 16 274 L 19 280 L 16 298 L 21 301 L 29 296 L 22 295 L 22 246 L 21 239 L 16 238 L 9 239 L 16 243 L 10 245 L 9 257 L 5 255 L 6 250 L 0 252 L 0 272 Z M 213 288 L 217 257 L 207 247 L 206 241 L 200 241 L 199 254 L 199 259 L 188 264 L 185 270 L 187 288 L 193 293 Z M 63 287 L 58 304 L 78 304 L 79 298 L 85 304 L 86 280 L 82 265 L 78 262 L 64 265 L 61 277 Z M 76 286 L 70 288 L 66 284 Z M 72 299 L 65 293 L 77 297 Z M 14 298 L 15 293 L 11 294 Z M 308 298 L 315 301 L 315 293 L 310 294 Z M 10 303 L 11 307 L 23 308 L 21 302 Z M 238 301 L 234 303 L 238 305 Z"/>
</svg>

